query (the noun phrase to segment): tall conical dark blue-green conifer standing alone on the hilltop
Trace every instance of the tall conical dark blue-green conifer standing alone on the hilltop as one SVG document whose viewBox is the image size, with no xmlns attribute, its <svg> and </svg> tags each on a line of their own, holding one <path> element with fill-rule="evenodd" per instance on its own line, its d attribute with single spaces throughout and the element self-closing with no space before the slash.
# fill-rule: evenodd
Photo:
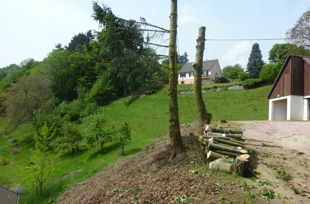
<svg viewBox="0 0 310 204">
<path fill-rule="evenodd" d="M 250 78 L 259 78 L 259 72 L 262 70 L 262 67 L 264 65 L 262 57 L 263 55 L 259 49 L 259 44 L 254 43 L 252 46 L 248 64 L 246 65 L 246 71 L 250 74 Z"/>
</svg>

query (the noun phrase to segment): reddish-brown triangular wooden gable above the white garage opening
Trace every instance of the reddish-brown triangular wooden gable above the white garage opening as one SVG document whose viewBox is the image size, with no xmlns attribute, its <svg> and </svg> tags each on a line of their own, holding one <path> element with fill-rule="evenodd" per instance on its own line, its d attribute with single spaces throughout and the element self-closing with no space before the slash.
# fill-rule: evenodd
<svg viewBox="0 0 310 204">
<path fill-rule="evenodd" d="M 278 94 L 280 94 L 280 97 L 291 95 L 291 59 L 292 58 L 290 57 L 288 59 L 289 61 L 284 64 L 282 72 L 278 76 L 276 83 L 273 85 L 269 99 L 278 98 Z"/>
</svg>

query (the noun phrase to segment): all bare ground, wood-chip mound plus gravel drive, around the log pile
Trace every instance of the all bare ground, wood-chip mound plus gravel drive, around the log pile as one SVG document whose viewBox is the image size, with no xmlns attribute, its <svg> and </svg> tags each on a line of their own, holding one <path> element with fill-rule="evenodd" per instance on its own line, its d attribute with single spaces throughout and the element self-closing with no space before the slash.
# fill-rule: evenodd
<svg viewBox="0 0 310 204">
<path fill-rule="evenodd" d="M 251 161 L 275 184 L 281 193 L 293 203 L 310 203 L 310 194 L 295 194 L 310 189 L 309 148 L 310 122 L 283 121 L 238 121 L 246 129 L 246 148 L 255 150 Z M 196 132 L 197 125 L 183 125 L 181 133 L 184 145 L 193 145 L 189 132 Z M 301 154 L 298 152 L 303 152 Z M 57 199 L 56 203 L 172 203 L 177 195 L 189 194 L 184 203 L 283 203 L 277 190 L 266 182 L 268 189 L 275 192 L 275 198 L 266 200 L 256 195 L 258 182 L 234 178 L 225 173 L 206 170 L 191 173 L 199 168 L 191 163 L 198 157 L 197 151 L 187 149 L 182 158 L 171 162 L 169 138 L 162 137 L 148 145 L 141 152 L 107 165 L 94 177 L 73 184 Z M 203 167 L 205 168 L 205 167 Z M 203 169 L 202 168 L 202 169 Z M 291 174 L 285 182 L 276 172 Z M 262 174 L 257 175 L 263 177 Z M 245 184 L 246 182 L 246 184 Z M 246 188 L 250 186 L 250 188 Z M 309 189 L 308 189 L 309 188 Z M 254 197 L 249 197 L 255 193 Z M 279 193 L 280 194 L 280 193 Z M 178 202 L 175 202 L 178 203 Z"/>
</svg>

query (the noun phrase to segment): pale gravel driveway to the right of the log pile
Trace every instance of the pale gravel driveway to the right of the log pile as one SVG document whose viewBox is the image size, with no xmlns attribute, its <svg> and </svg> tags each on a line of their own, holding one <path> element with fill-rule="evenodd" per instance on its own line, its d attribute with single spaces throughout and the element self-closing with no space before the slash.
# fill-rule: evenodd
<svg viewBox="0 0 310 204">
<path fill-rule="evenodd" d="M 297 190 L 310 189 L 310 122 L 289 121 L 240 121 L 247 148 L 255 150 L 255 165 L 287 197 L 290 203 L 310 203 L 310 194 L 300 196 Z M 301 154 L 302 152 L 304 154 Z M 299 153 L 299 154 L 298 154 Z M 292 180 L 277 179 L 276 171 L 286 171 Z M 262 175 L 260 177 L 264 178 Z M 277 193 L 277 190 L 274 189 Z M 271 203 L 278 202 L 276 199 Z"/>
</svg>

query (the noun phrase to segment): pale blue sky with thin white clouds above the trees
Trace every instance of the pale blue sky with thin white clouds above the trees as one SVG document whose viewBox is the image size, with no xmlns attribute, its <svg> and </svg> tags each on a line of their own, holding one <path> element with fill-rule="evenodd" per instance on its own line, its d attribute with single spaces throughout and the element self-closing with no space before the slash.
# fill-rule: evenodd
<svg viewBox="0 0 310 204">
<path fill-rule="evenodd" d="M 104 0 L 113 13 L 169 29 L 169 0 Z M 178 50 L 195 61 L 198 28 L 206 39 L 285 38 L 286 31 L 310 7 L 309 0 L 179 0 Z M 87 30 L 99 31 L 91 0 L 0 0 L 0 67 L 33 58 L 41 61 L 56 44 Z M 218 59 L 221 68 L 240 63 L 246 69 L 253 43 L 259 43 L 263 60 L 275 43 L 269 41 L 206 41 L 204 60 Z M 163 50 L 162 50 L 163 51 Z"/>
</svg>

